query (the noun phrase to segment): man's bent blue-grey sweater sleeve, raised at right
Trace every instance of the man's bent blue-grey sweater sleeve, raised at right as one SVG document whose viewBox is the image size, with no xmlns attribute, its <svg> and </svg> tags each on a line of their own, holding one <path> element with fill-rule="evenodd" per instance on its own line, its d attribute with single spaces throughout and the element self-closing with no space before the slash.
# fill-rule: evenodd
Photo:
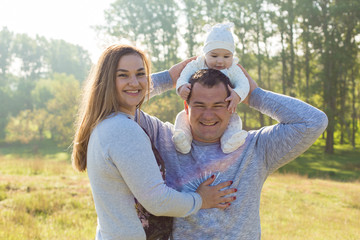
<svg viewBox="0 0 360 240">
<path fill-rule="evenodd" d="M 255 89 L 250 107 L 279 123 L 256 132 L 256 151 L 271 173 L 305 152 L 327 127 L 327 116 L 319 109 L 292 97 Z"/>
</svg>

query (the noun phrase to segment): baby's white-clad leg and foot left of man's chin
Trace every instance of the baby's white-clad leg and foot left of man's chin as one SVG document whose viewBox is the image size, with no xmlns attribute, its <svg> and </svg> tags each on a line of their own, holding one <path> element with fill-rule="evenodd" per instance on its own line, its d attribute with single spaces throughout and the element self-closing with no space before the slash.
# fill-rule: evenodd
<svg viewBox="0 0 360 240">
<path fill-rule="evenodd" d="M 175 119 L 175 131 L 172 137 L 175 148 L 182 154 L 189 153 L 191 150 L 192 135 L 190 123 L 185 111 L 178 113 Z"/>
</svg>

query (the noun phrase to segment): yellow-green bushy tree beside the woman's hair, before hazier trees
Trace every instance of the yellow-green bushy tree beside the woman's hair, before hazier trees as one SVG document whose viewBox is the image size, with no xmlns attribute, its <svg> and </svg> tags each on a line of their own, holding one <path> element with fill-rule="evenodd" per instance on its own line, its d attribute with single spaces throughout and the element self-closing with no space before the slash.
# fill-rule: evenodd
<svg viewBox="0 0 360 240">
<path fill-rule="evenodd" d="M 11 117 L 6 127 L 6 141 L 29 143 L 52 138 L 69 146 L 78 107 L 80 83 L 72 75 L 54 74 L 37 82 L 31 96 L 34 108 Z"/>
</svg>

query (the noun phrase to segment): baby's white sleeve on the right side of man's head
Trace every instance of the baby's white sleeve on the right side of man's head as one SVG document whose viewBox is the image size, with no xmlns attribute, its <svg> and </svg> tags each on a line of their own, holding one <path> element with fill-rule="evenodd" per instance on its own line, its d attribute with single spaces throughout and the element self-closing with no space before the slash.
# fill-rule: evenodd
<svg viewBox="0 0 360 240">
<path fill-rule="evenodd" d="M 241 70 L 239 66 L 235 63 L 231 65 L 228 69 L 228 74 L 231 83 L 234 85 L 234 91 L 239 95 L 241 98 L 241 102 L 247 97 L 250 85 L 247 77 L 245 76 L 244 72 Z"/>
</svg>

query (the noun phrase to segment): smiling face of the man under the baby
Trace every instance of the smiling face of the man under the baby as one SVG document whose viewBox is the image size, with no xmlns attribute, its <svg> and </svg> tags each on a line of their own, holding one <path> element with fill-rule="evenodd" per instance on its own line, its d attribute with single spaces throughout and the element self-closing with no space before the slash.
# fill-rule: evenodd
<svg viewBox="0 0 360 240">
<path fill-rule="evenodd" d="M 212 88 L 195 83 L 185 111 L 188 115 L 194 140 L 218 142 L 230 119 L 227 110 L 227 91 L 223 83 Z"/>
</svg>

